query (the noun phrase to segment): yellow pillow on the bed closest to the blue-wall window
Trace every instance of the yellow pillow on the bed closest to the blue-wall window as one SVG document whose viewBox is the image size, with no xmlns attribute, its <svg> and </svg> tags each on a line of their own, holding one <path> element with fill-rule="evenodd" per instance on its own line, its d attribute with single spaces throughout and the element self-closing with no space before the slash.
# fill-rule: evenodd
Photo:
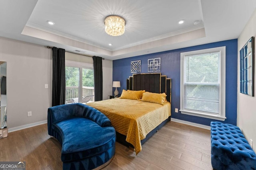
<svg viewBox="0 0 256 170">
<path fill-rule="evenodd" d="M 164 102 L 166 102 L 166 94 L 165 93 L 159 94 L 159 93 L 145 92 L 142 95 L 141 101 L 164 105 Z"/>
</svg>

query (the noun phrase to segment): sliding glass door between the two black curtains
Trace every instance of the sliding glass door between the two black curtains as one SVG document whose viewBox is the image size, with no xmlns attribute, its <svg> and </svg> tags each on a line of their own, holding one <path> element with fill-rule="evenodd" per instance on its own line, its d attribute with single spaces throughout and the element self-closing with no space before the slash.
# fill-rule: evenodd
<svg viewBox="0 0 256 170">
<path fill-rule="evenodd" d="M 94 95 L 93 64 L 66 61 L 66 104 L 82 103 Z M 94 101 L 94 97 L 90 99 Z"/>
</svg>

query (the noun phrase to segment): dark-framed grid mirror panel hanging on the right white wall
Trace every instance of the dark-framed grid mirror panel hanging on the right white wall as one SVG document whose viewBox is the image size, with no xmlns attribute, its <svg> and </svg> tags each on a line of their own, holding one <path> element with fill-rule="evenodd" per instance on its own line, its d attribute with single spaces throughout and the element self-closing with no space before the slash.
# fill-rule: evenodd
<svg viewBox="0 0 256 170">
<path fill-rule="evenodd" d="M 240 50 L 240 93 L 254 96 L 254 37 Z"/>
</svg>

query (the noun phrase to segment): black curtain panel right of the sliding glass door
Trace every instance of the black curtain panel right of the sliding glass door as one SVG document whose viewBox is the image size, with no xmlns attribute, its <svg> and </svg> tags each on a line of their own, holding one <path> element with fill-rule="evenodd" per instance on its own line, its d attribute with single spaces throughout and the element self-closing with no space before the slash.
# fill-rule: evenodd
<svg viewBox="0 0 256 170">
<path fill-rule="evenodd" d="M 94 70 L 94 100 L 102 100 L 102 57 L 93 56 L 93 70 Z"/>
</svg>

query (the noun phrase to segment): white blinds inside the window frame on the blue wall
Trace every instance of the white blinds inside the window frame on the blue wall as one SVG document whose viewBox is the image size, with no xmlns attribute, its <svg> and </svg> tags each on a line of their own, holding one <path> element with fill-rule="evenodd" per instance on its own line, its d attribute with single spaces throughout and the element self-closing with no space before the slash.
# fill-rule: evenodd
<svg viewBox="0 0 256 170">
<path fill-rule="evenodd" d="M 220 113 L 220 51 L 184 56 L 184 109 Z"/>
</svg>

